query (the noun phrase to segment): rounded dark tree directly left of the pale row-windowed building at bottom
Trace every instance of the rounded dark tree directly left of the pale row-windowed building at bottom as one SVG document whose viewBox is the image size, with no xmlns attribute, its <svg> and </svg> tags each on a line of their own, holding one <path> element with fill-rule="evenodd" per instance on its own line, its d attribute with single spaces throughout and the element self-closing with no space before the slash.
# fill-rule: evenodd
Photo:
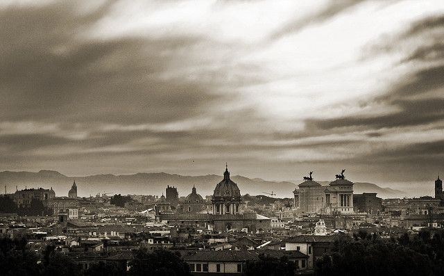
<svg viewBox="0 0 444 276">
<path fill-rule="evenodd" d="M 188 276 L 188 263 L 169 250 L 157 249 L 152 252 L 146 248 L 136 250 L 130 263 L 132 276 Z"/>
</svg>

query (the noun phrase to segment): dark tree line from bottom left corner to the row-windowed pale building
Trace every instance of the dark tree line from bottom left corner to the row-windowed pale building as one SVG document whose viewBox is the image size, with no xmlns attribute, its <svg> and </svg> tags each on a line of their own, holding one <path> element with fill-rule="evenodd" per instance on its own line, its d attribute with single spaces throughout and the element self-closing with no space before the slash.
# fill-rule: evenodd
<svg viewBox="0 0 444 276">
<path fill-rule="evenodd" d="M 189 266 L 168 250 L 136 250 L 130 270 L 114 261 L 99 261 L 87 270 L 71 257 L 47 245 L 42 256 L 29 249 L 25 239 L 0 238 L 0 275 L 5 276 L 189 276 Z"/>
</svg>

